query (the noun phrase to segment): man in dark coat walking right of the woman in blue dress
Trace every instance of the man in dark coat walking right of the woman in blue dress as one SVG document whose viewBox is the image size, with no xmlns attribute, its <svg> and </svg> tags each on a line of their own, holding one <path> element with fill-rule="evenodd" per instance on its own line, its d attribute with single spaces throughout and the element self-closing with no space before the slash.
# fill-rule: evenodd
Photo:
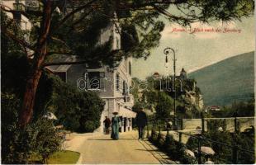
<svg viewBox="0 0 256 165">
<path fill-rule="evenodd" d="M 139 139 L 144 139 L 144 128 L 145 125 L 147 125 L 147 115 L 144 111 L 142 111 L 142 108 L 140 108 L 140 111 L 137 112 L 136 124 L 139 131 Z"/>
</svg>

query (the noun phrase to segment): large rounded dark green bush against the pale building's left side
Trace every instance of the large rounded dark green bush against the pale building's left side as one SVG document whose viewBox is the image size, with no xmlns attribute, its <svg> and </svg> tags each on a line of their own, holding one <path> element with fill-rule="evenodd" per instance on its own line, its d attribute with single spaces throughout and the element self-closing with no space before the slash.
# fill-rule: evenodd
<svg viewBox="0 0 256 165">
<path fill-rule="evenodd" d="M 58 124 L 78 132 L 92 132 L 100 126 L 105 104 L 97 93 L 78 92 L 59 78 L 50 76 L 49 79 L 53 82 L 53 95 L 45 110 L 55 113 Z"/>
</svg>

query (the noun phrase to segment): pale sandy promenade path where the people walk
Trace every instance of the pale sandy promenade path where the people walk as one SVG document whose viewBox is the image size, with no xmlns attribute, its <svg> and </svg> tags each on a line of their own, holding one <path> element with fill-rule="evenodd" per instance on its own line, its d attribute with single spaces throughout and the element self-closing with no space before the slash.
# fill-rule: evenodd
<svg viewBox="0 0 256 165">
<path fill-rule="evenodd" d="M 79 141 L 79 146 L 73 150 L 82 154 L 82 163 L 174 163 L 149 141 L 139 141 L 135 131 L 120 134 L 119 140 L 110 139 L 110 135 L 80 139 L 83 142 Z"/>
</svg>

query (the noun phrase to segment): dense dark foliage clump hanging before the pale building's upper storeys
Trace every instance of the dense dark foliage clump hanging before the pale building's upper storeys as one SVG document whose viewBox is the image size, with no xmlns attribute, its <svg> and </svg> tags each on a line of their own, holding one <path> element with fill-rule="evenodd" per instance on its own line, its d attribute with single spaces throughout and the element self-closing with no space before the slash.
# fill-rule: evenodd
<svg viewBox="0 0 256 165">
<path fill-rule="evenodd" d="M 94 3 L 101 7 L 98 7 L 97 10 L 85 8 L 83 13 L 75 14 L 73 19 L 68 19 L 58 31 L 54 31 L 54 35 L 65 44 L 59 40 L 49 40 L 51 51 L 76 54 L 87 60 L 89 65 L 107 64 L 115 67 L 122 57 L 146 58 L 149 54 L 145 54 L 145 51 L 149 52 L 149 49 L 159 45 L 160 32 L 164 30 L 164 23 L 156 20 L 159 16 L 158 12 L 127 10 L 124 11 L 125 15 L 130 16 L 131 19 L 126 19 L 121 17 L 121 12 L 116 10 L 116 2 L 100 0 Z M 114 12 L 117 13 L 118 23 L 117 18 L 113 20 Z M 62 19 L 63 16 L 54 12 L 50 28 L 55 29 Z M 123 51 L 113 52 L 111 51 L 113 36 L 110 39 L 103 39 L 107 41 L 103 45 L 99 45 L 98 41 L 102 40 L 100 39 L 102 31 L 108 31 L 107 28 L 116 25 L 121 26 L 118 33 L 121 34 L 121 50 Z M 36 33 L 39 32 L 36 31 Z"/>
</svg>

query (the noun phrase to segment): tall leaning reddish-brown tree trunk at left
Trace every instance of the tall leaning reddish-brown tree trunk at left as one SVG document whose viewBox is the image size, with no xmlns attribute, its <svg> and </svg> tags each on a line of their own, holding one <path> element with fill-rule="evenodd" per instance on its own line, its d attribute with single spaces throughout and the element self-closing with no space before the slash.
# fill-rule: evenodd
<svg viewBox="0 0 256 165">
<path fill-rule="evenodd" d="M 44 5 L 43 19 L 40 24 L 40 35 L 37 41 L 37 49 L 35 55 L 35 64 L 33 65 L 31 75 L 26 82 L 26 91 L 23 97 L 23 105 L 19 115 L 19 124 L 24 127 L 28 124 L 33 115 L 33 109 L 36 98 L 36 89 L 42 73 L 41 66 L 45 60 L 47 53 L 47 37 L 50 31 L 50 21 L 53 1 L 48 0 Z"/>
</svg>

